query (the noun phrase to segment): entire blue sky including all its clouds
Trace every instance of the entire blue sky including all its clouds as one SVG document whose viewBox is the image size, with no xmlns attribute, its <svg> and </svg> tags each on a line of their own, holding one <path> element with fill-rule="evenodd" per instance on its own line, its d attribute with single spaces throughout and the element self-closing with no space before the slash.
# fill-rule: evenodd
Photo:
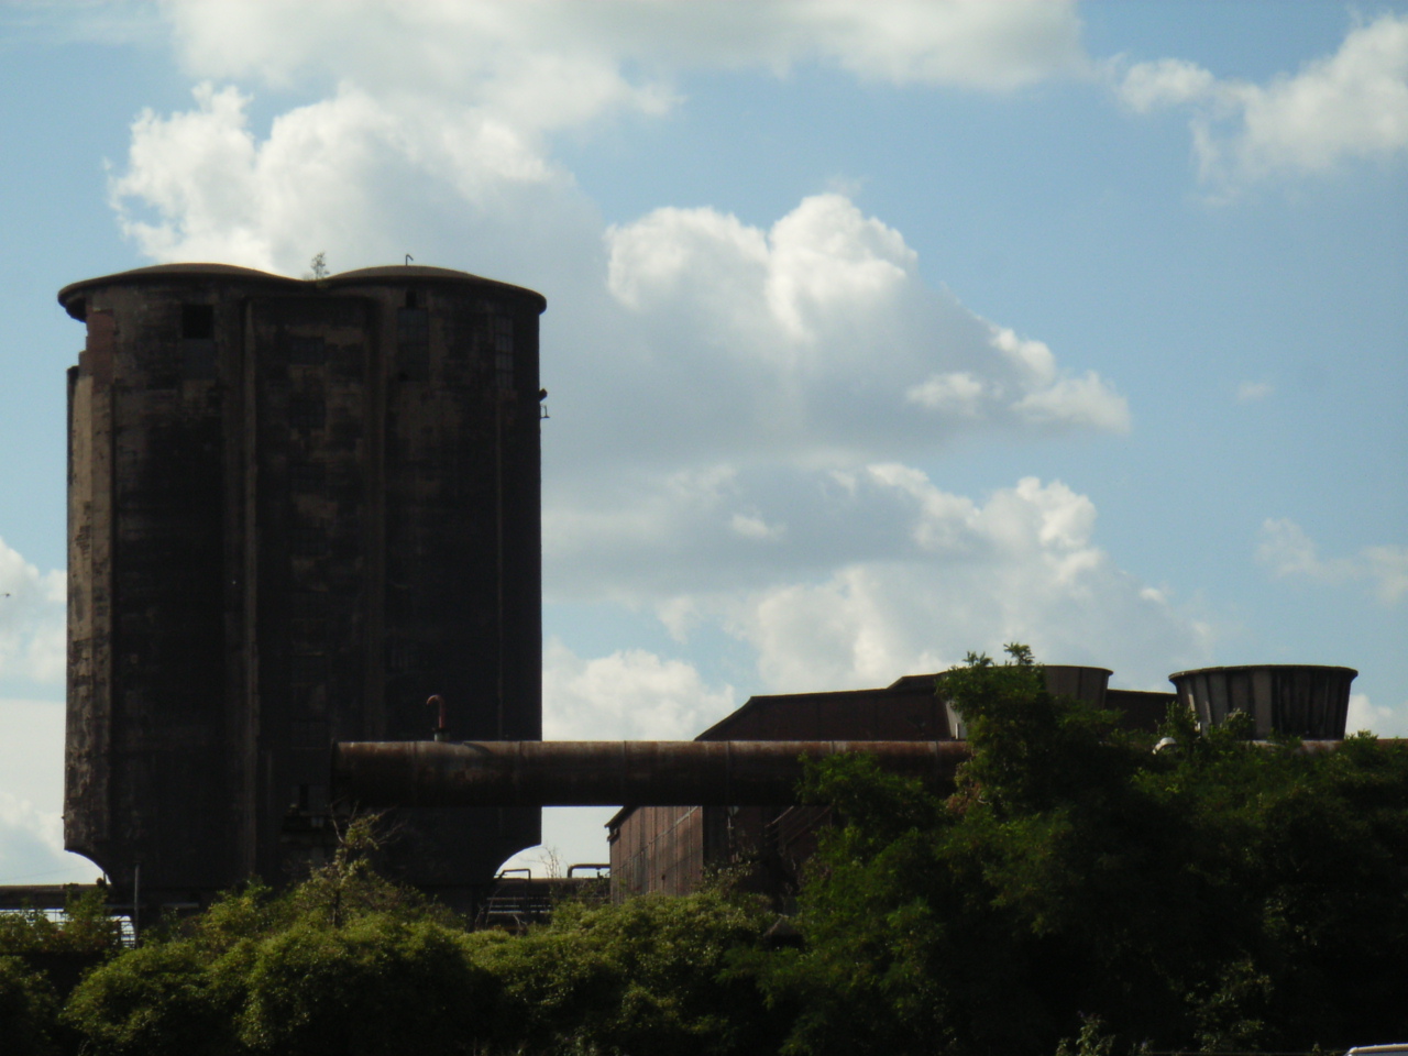
<svg viewBox="0 0 1408 1056">
<path fill-rule="evenodd" d="M 0 883 L 92 873 L 54 293 L 155 260 L 545 293 L 549 736 L 1011 639 L 1408 734 L 1408 4 L 11 3 L 0 84 Z"/>
</svg>

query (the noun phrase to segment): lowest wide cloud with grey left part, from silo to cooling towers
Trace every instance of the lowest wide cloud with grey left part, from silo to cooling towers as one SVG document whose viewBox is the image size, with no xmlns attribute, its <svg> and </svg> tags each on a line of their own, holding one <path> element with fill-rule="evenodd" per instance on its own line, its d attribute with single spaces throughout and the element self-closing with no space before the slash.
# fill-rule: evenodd
<svg viewBox="0 0 1408 1056">
<path fill-rule="evenodd" d="M 553 593 L 653 608 L 680 642 L 721 629 L 756 658 L 755 691 L 881 686 L 1014 639 L 1139 687 L 1209 655 L 1207 628 L 1119 569 L 1094 503 L 1057 480 L 974 498 L 898 462 L 741 472 L 717 510 L 732 504 L 765 524 L 786 510 L 786 536 L 760 548 L 681 496 L 650 538 L 553 536 Z"/>
</svg>

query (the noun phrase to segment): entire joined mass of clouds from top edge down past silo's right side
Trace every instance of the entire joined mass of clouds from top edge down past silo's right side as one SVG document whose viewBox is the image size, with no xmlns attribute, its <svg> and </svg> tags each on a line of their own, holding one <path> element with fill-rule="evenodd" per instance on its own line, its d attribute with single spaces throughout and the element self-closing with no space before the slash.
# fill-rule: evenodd
<svg viewBox="0 0 1408 1056">
<path fill-rule="evenodd" d="M 667 120 L 687 70 L 998 93 L 1087 76 L 1071 4 L 163 10 L 201 83 L 137 118 L 114 173 L 144 253 L 298 273 L 318 249 L 337 269 L 414 249 L 548 293 L 549 627 L 553 601 L 627 605 L 680 649 L 551 642 L 551 736 L 689 736 L 750 691 L 884 684 L 1014 638 L 1124 684 L 1205 653 L 1205 628 L 1094 542 L 1090 497 L 953 494 L 922 469 L 970 438 L 1128 432 L 1079 351 L 969 310 L 848 194 L 767 224 L 662 204 L 607 225 L 552 155 L 569 127 Z M 255 128 L 255 90 L 304 101 Z M 756 658 L 746 691 L 690 658 L 718 634 Z"/>
</svg>

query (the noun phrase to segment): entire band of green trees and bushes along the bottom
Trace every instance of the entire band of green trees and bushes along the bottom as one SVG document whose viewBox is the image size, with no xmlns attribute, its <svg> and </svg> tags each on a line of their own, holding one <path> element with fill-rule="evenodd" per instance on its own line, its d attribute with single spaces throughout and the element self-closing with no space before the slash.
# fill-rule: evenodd
<svg viewBox="0 0 1408 1056">
<path fill-rule="evenodd" d="M 251 886 L 118 952 L 100 900 L 0 918 L 4 1052 L 1326 1052 L 1408 1036 L 1408 752 L 1164 743 L 1049 696 L 1021 646 L 942 691 L 973 758 L 948 797 L 866 758 L 793 919 L 728 884 L 565 903 L 472 931 L 369 866 L 355 825 L 301 886 Z M 77 970 L 84 970 L 77 981 Z M 75 986 L 76 984 L 76 986 Z"/>
</svg>

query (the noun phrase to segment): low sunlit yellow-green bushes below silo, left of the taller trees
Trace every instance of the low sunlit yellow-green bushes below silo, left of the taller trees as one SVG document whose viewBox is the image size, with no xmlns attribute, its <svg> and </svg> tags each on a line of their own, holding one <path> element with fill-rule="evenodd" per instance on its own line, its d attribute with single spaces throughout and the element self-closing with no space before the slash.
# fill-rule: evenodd
<svg viewBox="0 0 1408 1056">
<path fill-rule="evenodd" d="M 358 826 L 300 887 L 251 887 L 151 936 L 89 974 L 62 1022 L 94 1056 L 777 1049 L 732 963 L 773 922 L 762 903 L 566 903 L 522 936 L 473 932 L 377 877 L 373 843 Z"/>
</svg>

